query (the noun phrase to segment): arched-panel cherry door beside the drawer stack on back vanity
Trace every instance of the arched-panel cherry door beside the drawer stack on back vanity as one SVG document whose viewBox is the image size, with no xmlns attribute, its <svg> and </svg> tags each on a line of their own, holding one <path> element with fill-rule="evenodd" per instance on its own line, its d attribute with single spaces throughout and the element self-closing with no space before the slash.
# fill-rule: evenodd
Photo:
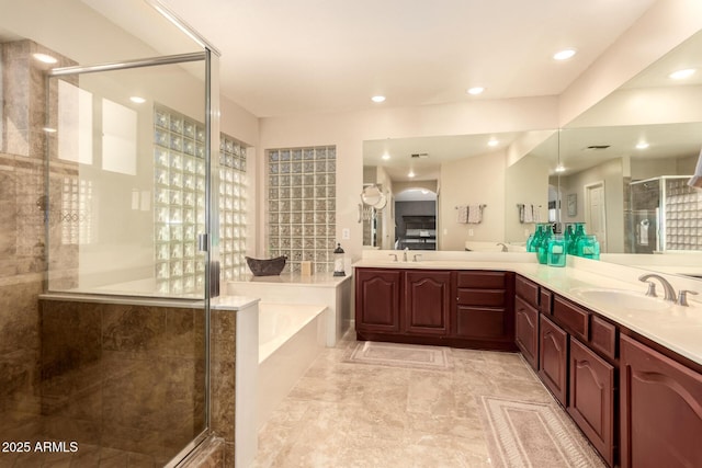
<svg viewBox="0 0 702 468">
<path fill-rule="evenodd" d="M 405 272 L 405 326 L 411 334 L 445 335 L 451 310 L 451 272 Z"/>
</svg>

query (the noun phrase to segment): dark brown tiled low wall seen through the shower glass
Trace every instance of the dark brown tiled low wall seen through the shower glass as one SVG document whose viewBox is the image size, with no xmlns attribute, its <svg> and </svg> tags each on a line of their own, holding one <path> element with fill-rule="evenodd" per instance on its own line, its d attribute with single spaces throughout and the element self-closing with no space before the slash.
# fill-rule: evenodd
<svg viewBox="0 0 702 468">
<path fill-rule="evenodd" d="M 140 454 L 161 466 L 205 429 L 197 304 L 43 296 L 41 310 L 43 437 L 112 449 L 125 460 Z"/>
</svg>

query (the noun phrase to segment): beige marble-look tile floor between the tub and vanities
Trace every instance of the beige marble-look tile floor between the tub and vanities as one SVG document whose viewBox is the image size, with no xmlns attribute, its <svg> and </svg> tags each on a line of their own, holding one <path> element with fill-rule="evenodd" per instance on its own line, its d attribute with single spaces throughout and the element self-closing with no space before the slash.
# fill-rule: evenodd
<svg viewBox="0 0 702 468">
<path fill-rule="evenodd" d="M 604 466 L 519 354 L 393 346 L 363 353 L 351 334 L 325 350 L 261 427 L 254 467 Z M 512 404 L 512 430 L 536 426 L 505 438 L 488 400 Z"/>
</svg>

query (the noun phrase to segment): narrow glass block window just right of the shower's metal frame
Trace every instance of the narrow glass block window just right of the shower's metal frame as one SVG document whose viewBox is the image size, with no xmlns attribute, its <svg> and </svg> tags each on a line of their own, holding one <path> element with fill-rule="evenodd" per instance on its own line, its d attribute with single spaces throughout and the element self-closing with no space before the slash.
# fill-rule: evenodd
<svg viewBox="0 0 702 468">
<path fill-rule="evenodd" d="M 247 273 L 246 147 L 226 135 L 219 140 L 219 259 L 222 279 Z"/>
</svg>

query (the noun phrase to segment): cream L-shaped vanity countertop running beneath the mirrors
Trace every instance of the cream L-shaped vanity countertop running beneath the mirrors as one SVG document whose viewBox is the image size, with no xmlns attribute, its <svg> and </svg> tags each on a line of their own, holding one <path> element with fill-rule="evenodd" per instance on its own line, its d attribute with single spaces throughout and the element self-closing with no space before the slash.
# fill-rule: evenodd
<svg viewBox="0 0 702 468">
<path fill-rule="evenodd" d="M 401 255 L 401 252 L 399 252 Z M 526 256 L 524 256 L 526 255 Z M 419 262 L 394 262 L 386 256 L 363 259 L 353 264 L 354 267 L 387 267 L 387 269 L 437 269 L 437 270 L 500 270 L 518 273 L 554 293 L 597 311 L 603 317 L 646 336 L 676 353 L 702 364 L 702 303 L 700 296 L 690 296 L 690 307 L 669 304 L 665 310 L 633 310 L 607 304 L 593 303 L 579 296 L 578 290 L 586 288 L 624 289 L 634 294 L 646 292 L 646 285 L 637 277 L 643 271 L 621 265 L 610 265 L 602 262 L 580 259 L 569 261 L 569 266 L 553 267 L 535 263 L 533 254 L 497 253 L 472 261 L 471 258 L 460 255 L 460 260 L 437 259 Z M 502 260 L 503 259 L 503 260 Z M 586 267 L 580 267 L 585 264 Z M 574 266 L 575 265 L 575 266 Z M 679 278 L 670 278 L 675 282 Z M 692 284 L 693 287 L 689 285 Z M 702 295 L 700 282 L 683 283 L 679 287 L 691 288 Z M 660 290 L 660 286 L 658 288 Z M 650 299 L 654 300 L 654 299 Z"/>
</svg>

